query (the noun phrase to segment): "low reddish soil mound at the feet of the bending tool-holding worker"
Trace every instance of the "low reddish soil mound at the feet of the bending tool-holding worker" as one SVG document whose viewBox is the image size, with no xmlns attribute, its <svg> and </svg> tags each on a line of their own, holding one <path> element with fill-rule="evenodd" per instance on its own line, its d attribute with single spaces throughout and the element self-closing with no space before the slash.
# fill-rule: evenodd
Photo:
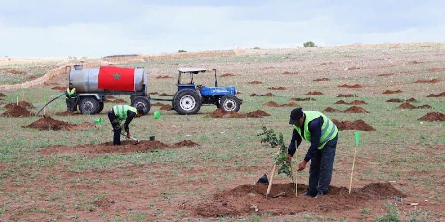
<svg viewBox="0 0 445 222">
<path fill-rule="evenodd" d="M 181 148 L 183 146 L 190 146 L 193 142 L 182 141 L 175 145 L 164 144 L 157 140 L 141 140 L 139 143 L 131 140 L 125 140 L 124 136 L 121 136 L 121 146 L 113 146 L 113 142 L 106 142 L 102 144 L 83 144 L 74 147 L 68 146 L 53 146 L 46 149 L 42 149 L 39 152 L 42 154 L 105 154 L 105 153 L 132 153 L 132 152 L 145 152 L 156 151 L 158 149 L 165 148 Z M 195 145 L 199 146 L 199 145 Z"/>
</svg>

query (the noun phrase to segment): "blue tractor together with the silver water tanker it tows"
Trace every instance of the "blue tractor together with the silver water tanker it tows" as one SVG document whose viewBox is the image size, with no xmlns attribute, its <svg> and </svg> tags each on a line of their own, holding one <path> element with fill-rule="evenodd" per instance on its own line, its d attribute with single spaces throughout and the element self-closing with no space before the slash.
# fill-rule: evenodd
<svg viewBox="0 0 445 222">
<path fill-rule="evenodd" d="M 129 95 L 131 106 L 150 111 L 150 100 L 171 101 L 173 109 L 179 114 L 196 114 L 201 105 L 216 105 L 223 111 L 238 111 L 241 101 L 236 97 L 235 86 L 218 86 L 216 70 L 215 87 L 195 85 L 193 75 L 209 73 L 201 68 L 182 68 L 178 70 L 178 91 L 172 99 L 150 98 L 148 95 L 147 71 L 143 67 L 125 68 L 101 66 L 84 69 L 75 65 L 67 67 L 68 81 L 73 83 L 79 96 L 77 105 L 83 114 L 95 114 L 103 109 L 103 99 L 107 95 Z M 190 81 L 182 83 L 181 77 L 190 75 Z"/>
</svg>

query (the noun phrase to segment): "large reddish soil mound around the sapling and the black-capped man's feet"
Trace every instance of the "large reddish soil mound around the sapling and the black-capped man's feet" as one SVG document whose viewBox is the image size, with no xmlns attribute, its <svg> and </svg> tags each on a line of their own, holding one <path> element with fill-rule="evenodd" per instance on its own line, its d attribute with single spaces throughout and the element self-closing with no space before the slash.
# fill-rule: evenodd
<svg viewBox="0 0 445 222">
<path fill-rule="evenodd" d="M 273 214 L 292 215 L 303 211 L 332 212 L 361 209 L 370 200 L 406 197 L 389 183 L 371 183 L 363 188 L 329 187 L 329 193 L 322 198 L 295 196 L 295 184 L 273 184 L 270 196 L 283 193 L 277 198 L 265 198 L 268 184 L 246 184 L 231 190 L 217 192 L 209 197 L 197 198 L 183 203 L 180 208 L 191 215 L 216 217 L 220 215 Z M 298 184 L 298 193 L 304 193 L 308 185 Z"/>
</svg>

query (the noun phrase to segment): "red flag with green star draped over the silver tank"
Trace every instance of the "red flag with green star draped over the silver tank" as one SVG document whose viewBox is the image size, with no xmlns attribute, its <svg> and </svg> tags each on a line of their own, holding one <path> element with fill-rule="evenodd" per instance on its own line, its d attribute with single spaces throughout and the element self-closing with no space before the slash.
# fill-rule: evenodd
<svg viewBox="0 0 445 222">
<path fill-rule="evenodd" d="M 101 66 L 97 88 L 134 92 L 134 68 Z"/>
</svg>

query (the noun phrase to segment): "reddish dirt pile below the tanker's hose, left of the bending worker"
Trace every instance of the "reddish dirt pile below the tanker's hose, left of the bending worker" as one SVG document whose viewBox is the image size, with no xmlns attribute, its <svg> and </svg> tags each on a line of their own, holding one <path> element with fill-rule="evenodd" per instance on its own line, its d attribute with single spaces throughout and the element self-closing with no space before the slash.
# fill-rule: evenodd
<svg viewBox="0 0 445 222">
<path fill-rule="evenodd" d="M 93 127 L 92 123 L 89 122 L 83 122 L 80 125 L 72 125 L 67 122 L 59 121 L 56 119 L 53 119 L 49 116 L 45 118 L 40 118 L 39 120 L 24 126 L 25 128 L 32 128 L 32 129 L 38 129 L 38 130 L 83 130 L 85 128 Z"/>
</svg>

